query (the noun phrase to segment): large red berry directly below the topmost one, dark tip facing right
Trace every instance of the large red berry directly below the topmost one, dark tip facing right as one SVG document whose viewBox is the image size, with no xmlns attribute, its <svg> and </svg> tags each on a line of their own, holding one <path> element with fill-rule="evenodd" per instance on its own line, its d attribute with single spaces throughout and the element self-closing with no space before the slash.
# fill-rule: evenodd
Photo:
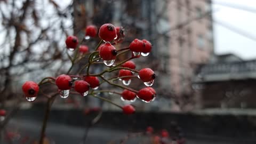
<svg viewBox="0 0 256 144">
<path fill-rule="evenodd" d="M 102 60 L 115 60 L 117 51 L 110 43 L 106 43 L 99 48 L 99 54 Z"/>
</svg>

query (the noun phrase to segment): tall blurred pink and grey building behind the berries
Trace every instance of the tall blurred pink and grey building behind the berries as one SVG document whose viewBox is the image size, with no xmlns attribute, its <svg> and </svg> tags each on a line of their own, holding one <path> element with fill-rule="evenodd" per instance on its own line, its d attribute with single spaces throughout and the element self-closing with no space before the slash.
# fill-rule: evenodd
<svg viewBox="0 0 256 144">
<path fill-rule="evenodd" d="M 123 26 L 126 32 L 123 45 L 129 45 L 134 38 L 148 39 L 154 45 L 147 58 L 135 61 L 140 63 L 138 69 L 150 67 L 156 71 L 154 88 L 159 96 L 171 98 L 174 95 L 180 103 L 183 95 L 192 95 L 191 78 L 195 69 L 213 55 L 211 1 L 76 2 L 85 5 L 87 19 L 82 19 L 84 22 L 98 26 L 113 22 Z M 79 5 L 77 10 L 78 14 L 83 11 Z M 79 25 L 84 27 L 86 23 Z M 168 101 L 166 109 L 171 105 Z"/>
</svg>

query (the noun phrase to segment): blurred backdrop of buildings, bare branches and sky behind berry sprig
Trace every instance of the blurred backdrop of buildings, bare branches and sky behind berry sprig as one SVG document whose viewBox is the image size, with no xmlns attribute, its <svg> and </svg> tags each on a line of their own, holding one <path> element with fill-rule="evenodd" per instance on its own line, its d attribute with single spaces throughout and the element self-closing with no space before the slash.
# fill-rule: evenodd
<svg viewBox="0 0 256 144">
<path fill-rule="evenodd" d="M 57 87 L 46 84 L 35 102 L 27 102 L 22 84 L 66 73 L 71 66 L 67 53 L 73 54 L 67 51 L 66 37 L 83 39 L 86 26 L 113 23 L 125 29 L 117 49 L 135 38 L 153 44 L 148 57 L 134 62 L 136 69 L 149 67 L 157 74 L 153 85 L 157 98 L 150 103 L 131 102 L 99 93 L 119 105 L 134 105 L 137 112 L 126 116 L 118 107 L 90 96 L 57 97 L 47 142 L 157 143 L 155 135 L 160 135 L 162 143 L 255 143 L 255 18 L 253 0 L 2 0 L 0 109 L 6 109 L 7 116 L 0 122 L 0 142 L 38 143 L 44 94 Z M 91 38 L 83 44 L 93 51 L 99 41 Z M 127 57 L 121 55 L 117 62 Z M 95 65 L 91 73 L 105 68 Z M 117 73 L 106 76 L 110 75 Z M 145 86 L 134 79 L 131 87 Z M 109 85 L 101 89 L 122 92 Z M 141 135 L 148 126 L 154 128 L 154 135 Z M 166 140 L 163 130 L 169 132 Z"/>
</svg>

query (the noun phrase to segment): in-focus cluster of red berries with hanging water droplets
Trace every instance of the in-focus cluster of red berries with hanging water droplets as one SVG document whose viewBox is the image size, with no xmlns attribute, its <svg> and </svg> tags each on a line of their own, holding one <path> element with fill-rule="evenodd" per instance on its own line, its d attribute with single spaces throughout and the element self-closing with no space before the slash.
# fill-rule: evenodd
<svg viewBox="0 0 256 144">
<path fill-rule="evenodd" d="M 102 39 L 102 41 L 105 42 L 104 44 L 101 44 L 99 47 L 97 47 L 99 57 L 103 60 L 105 65 L 112 66 L 118 53 L 114 44 L 123 42 L 125 36 L 124 28 L 115 27 L 110 23 L 106 23 L 100 27 L 98 33 L 97 27 L 90 25 L 87 26 L 85 29 L 84 38 L 89 39 L 97 36 L 97 34 Z M 71 51 L 76 50 L 78 47 L 78 38 L 76 36 L 68 36 L 66 39 L 66 46 Z M 151 43 L 146 39 L 143 39 L 142 41 L 139 39 L 134 39 L 134 41 L 131 42 L 130 46 L 123 50 L 130 50 L 133 52 L 133 55 L 134 53 L 137 55 L 140 55 L 141 53 L 141 55 L 146 56 L 151 51 L 151 48 Z M 82 54 L 89 53 L 89 47 L 86 45 L 79 45 L 78 49 L 79 52 Z M 139 91 L 124 88 L 125 90 L 121 93 L 122 100 L 134 101 L 136 98 L 139 98 L 142 101 L 150 102 L 155 99 L 156 91 L 152 87 L 149 87 L 153 85 L 154 79 L 156 78 L 153 70 L 151 70 L 150 68 L 144 68 L 137 71 L 135 70 L 136 65 L 133 61 L 126 61 L 123 63 L 121 62 L 121 64 L 119 64 L 118 66 L 121 67 L 119 68 L 120 70 L 118 73 L 118 77 L 123 81 L 124 85 L 129 85 L 131 83 L 131 78 L 134 77 L 134 73 L 138 73 L 138 77 L 147 86 Z M 90 74 L 77 77 L 62 74 L 57 78 L 52 79 L 55 81 L 55 84 L 57 85 L 60 96 L 62 98 L 67 98 L 71 89 L 74 89 L 74 91 L 80 93 L 83 96 L 86 96 L 89 93 L 90 89 L 96 90 L 100 85 L 98 77 L 90 76 Z M 34 101 L 39 91 L 39 85 L 35 82 L 28 81 L 23 84 L 22 90 L 28 101 Z M 132 114 L 134 113 L 135 109 L 132 105 L 126 105 L 123 107 L 123 111 L 125 114 Z"/>
</svg>

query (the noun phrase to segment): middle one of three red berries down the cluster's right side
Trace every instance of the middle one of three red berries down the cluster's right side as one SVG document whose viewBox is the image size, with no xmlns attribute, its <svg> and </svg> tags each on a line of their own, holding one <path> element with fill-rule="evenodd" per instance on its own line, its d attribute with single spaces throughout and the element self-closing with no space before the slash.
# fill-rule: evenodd
<svg viewBox="0 0 256 144">
<path fill-rule="evenodd" d="M 143 82 L 150 82 L 156 78 L 156 74 L 150 68 L 143 68 L 139 71 L 139 77 Z"/>
</svg>

